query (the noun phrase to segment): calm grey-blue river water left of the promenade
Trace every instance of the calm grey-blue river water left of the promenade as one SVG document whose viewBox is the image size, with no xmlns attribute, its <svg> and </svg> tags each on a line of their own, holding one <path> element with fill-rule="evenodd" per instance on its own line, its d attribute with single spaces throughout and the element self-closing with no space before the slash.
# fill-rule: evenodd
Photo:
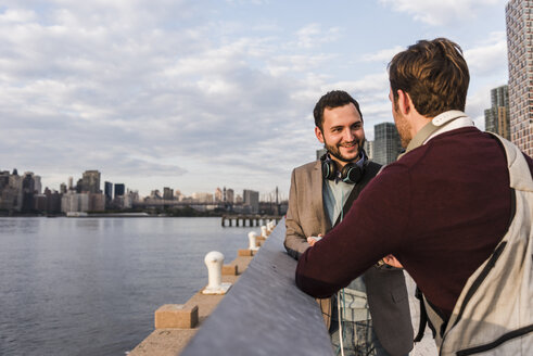
<svg viewBox="0 0 533 356">
<path fill-rule="evenodd" d="M 0 218 L 0 355 L 124 355 L 254 228 L 219 218 Z M 255 228 L 258 230 L 258 228 Z"/>
</svg>

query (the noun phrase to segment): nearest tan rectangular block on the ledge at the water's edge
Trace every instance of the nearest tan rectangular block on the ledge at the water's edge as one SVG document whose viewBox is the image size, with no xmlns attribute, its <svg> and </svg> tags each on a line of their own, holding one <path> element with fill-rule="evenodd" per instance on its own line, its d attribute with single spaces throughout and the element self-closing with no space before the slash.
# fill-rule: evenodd
<svg viewBox="0 0 533 356">
<path fill-rule="evenodd" d="M 155 310 L 155 329 L 192 329 L 198 323 L 198 305 L 165 304 Z"/>
</svg>

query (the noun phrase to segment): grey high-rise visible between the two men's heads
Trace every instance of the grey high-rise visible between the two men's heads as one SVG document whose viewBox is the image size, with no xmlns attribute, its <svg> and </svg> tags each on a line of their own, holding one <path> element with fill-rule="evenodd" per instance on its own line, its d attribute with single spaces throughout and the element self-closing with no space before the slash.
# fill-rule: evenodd
<svg viewBox="0 0 533 356">
<path fill-rule="evenodd" d="M 396 125 L 381 123 L 373 126 L 373 161 L 385 165 L 395 162 L 402 144 Z"/>
</svg>

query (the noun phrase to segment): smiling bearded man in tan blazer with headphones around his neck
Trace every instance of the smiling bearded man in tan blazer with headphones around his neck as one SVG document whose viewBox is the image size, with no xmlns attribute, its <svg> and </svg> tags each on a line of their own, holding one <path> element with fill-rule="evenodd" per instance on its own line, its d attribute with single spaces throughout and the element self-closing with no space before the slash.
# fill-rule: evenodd
<svg viewBox="0 0 533 356">
<path fill-rule="evenodd" d="M 315 135 L 328 152 L 292 171 L 284 246 L 296 259 L 343 219 L 381 167 L 363 150 L 363 115 L 347 92 L 322 96 L 314 116 Z M 319 303 L 338 355 L 406 355 L 413 348 L 401 269 L 370 267 L 331 301 Z"/>
</svg>

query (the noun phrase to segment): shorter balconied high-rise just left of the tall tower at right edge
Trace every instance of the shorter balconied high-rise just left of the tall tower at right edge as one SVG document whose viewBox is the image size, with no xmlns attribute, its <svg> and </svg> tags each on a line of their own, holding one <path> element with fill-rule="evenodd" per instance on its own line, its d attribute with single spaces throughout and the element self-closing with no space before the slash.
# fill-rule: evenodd
<svg viewBox="0 0 533 356">
<path fill-rule="evenodd" d="M 491 90 L 491 109 L 485 110 L 485 130 L 510 140 L 508 86 Z"/>
</svg>

